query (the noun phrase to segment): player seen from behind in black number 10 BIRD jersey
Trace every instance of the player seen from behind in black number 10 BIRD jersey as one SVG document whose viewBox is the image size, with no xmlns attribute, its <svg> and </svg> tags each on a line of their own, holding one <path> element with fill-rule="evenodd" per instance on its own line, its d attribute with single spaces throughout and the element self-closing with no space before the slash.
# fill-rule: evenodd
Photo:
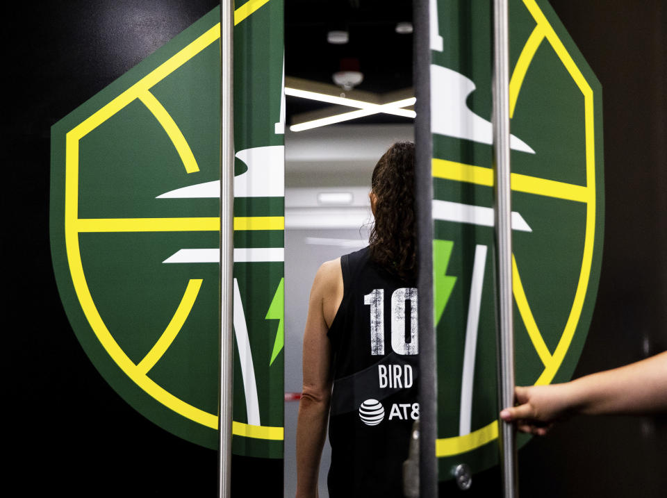
<svg viewBox="0 0 667 498">
<path fill-rule="evenodd" d="M 315 275 L 304 331 L 297 497 L 318 493 L 329 420 L 331 497 L 402 497 L 417 399 L 414 144 L 393 144 L 372 174 L 369 246 Z M 333 392 L 332 392 L 333 388 Z"/>
</svg>

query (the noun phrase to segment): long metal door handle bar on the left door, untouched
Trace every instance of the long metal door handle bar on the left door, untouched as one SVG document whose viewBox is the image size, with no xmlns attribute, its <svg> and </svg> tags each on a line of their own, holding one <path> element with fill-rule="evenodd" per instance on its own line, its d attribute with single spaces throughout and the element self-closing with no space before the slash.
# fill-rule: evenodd
<svg viewBox="0 0 667 498">
<path fill-rule="evenodd" d="M 218 497 L 231 496 L 233 376 L 233 0 L 220 1 L 220 408 Z"/>
</svg>

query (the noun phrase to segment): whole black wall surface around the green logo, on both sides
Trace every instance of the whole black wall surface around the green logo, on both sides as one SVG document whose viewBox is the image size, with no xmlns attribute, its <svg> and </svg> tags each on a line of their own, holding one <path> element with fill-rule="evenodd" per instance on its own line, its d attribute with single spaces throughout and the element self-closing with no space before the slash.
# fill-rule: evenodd
<svg viewBox="0 0 667 498">
<path fill-rule="evenodd" d="M 289 0 L 287 0 L 289 1 Z M 213 496 L 217 456 L 138 415 L 83 353 L 49 252 L 50 127 L 215 7 L 212 0 L 50 1 L 4 11 L 5 474 L 22 495 Z M 602 277 L 576 376 L 667 349 L 667 13 L 661 0 L 552 0 L 602 82 Z M 8 109 L 8 112 L 7 112 Z M 667 418 L 579 417 L 519 457 L 525 497 L 663 497 Z M 282 479 L 234 460 L 236 496 Z M 252 488 L 256 486 L 258 489 Z M 10 486 L 8 486 L 11 489 Z M 499 495 L 497 472 L 463 495 Z M 456 492 L 448 485 L 445 492 Z"/>
</svg>

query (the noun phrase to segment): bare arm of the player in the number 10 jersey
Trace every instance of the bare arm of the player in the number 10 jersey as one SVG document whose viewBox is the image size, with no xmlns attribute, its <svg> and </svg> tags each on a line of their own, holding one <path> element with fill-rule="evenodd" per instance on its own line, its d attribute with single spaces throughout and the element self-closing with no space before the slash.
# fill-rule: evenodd
<svg viewBox="0 0 667 498">
<path fill-rule="evenodd" d="M 304 331 L 304 387 L 297 422 L 297 497 L 318 496 L 322 447 L 331 398 L 331 345 L 327 332 L 342 299 L 340 260 L 315 275 Z"/>
</svg>

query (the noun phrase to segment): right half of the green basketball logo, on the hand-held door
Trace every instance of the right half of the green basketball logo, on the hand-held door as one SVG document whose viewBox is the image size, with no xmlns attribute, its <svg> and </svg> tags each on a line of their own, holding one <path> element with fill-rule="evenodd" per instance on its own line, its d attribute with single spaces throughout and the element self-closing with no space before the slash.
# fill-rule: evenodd
<svg viewBox="0 0 667 498">
<path fill-rule="evenodd" d="M 431 52 L 441 480 L 458 463 L 479 471 L 497 461 L 491 95 L 482 91 L 490 16 L 439 3 L 438 19 L 456 27 Z M 511 2 L 510 25 L 516 381 L 526 385 L 569 379 L 588 330 L 602 253 L 602 99 L 546 3 Z"/>
</svg>

